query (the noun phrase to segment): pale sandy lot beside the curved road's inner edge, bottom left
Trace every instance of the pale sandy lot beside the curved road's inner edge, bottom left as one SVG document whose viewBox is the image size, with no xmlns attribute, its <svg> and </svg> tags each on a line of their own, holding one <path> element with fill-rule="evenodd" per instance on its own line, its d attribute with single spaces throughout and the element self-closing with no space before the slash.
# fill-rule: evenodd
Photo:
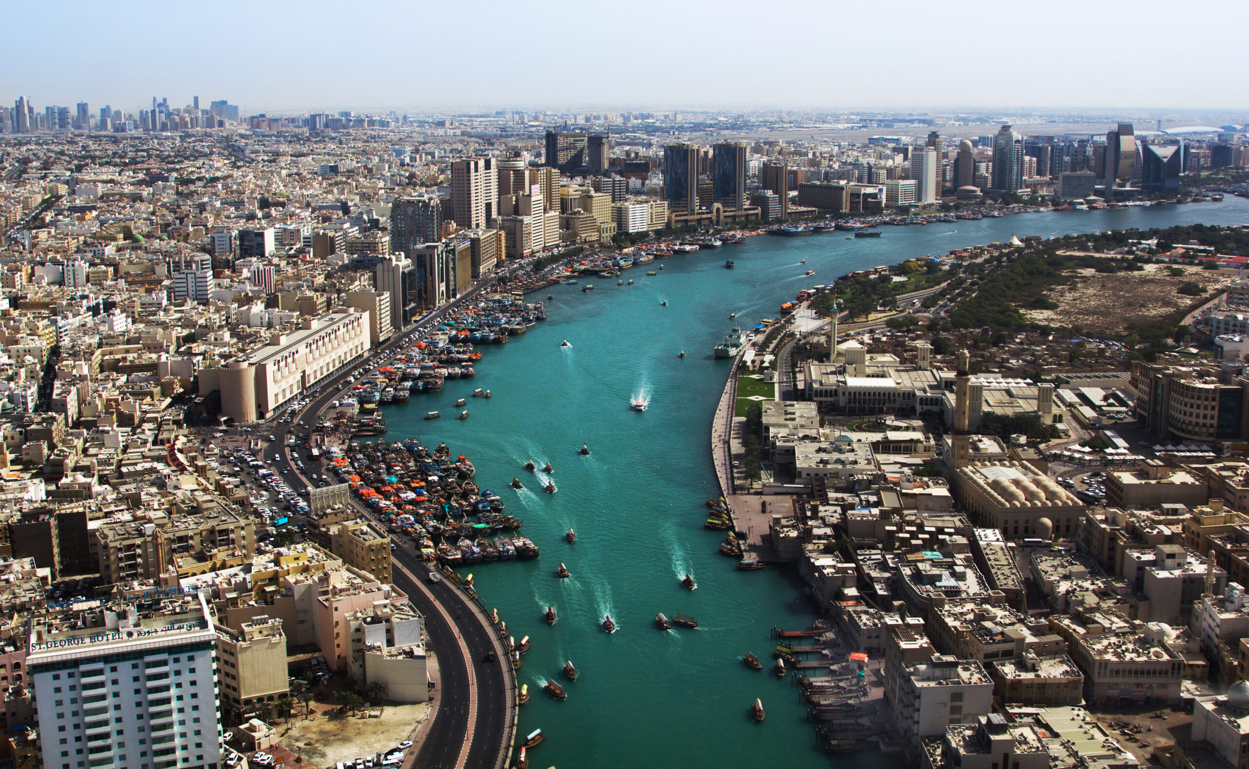
<svg viewBox="0 0 1249 769">
<path fill-rule="evenodd" d="M 333 767 L 337 762 L 385 753 L 406 739 L 430 715 L 430 704 L 385 705 L 381 718 L 340 715 L 335 705 L 313 703 L 312 715 L 304 720 L 304 705 L 295 709 L 290 724 L 270 722 L 277 740 L 291 753 L 304 757 L 309 767 Z M 362 710 L 363 712 L 363 710 Z M 302 749 L 302 752 L 301 752 Z"/>
</svg>

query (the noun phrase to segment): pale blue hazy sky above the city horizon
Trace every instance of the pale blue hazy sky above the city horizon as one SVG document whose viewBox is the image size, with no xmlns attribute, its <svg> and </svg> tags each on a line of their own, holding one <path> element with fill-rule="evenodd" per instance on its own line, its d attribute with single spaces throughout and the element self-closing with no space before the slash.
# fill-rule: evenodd
<svg viewBox="0 0 1249 769">
<path fill-rule="evenodd" d="M 4 0 L 0 101 L 1249 110 L 1249 2 Z M 1230 39 L 1224 37 L 1224 41 Z M 1214 46 L 1218 49 L 1219 46 Z"/>
</svg>

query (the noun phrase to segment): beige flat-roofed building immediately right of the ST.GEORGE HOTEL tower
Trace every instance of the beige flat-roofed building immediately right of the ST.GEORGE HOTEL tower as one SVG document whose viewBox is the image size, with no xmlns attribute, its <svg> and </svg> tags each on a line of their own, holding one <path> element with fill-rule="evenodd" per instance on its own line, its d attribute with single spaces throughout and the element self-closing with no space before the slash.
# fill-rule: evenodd
<svg viewBox="0 0 1249 769">
<path fill-rule="evenodd" d="M 260 703 L 286 694 L 286 634 L 277 617 L 254 617 L 235 630 L 215 624 L 221 700 L 237 723 L 256 715 Z"/>
</svg>

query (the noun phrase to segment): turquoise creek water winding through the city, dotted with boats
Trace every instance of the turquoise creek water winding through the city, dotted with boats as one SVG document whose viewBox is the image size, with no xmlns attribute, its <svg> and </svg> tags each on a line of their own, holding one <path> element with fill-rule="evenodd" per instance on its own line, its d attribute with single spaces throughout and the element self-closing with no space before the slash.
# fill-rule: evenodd
<svg viewBox="0 0 1249 769">
<path fill-rule="evenodd" d="M 884 227 L 883 237 L 846 240 L 829 232 L 796 238 L 759 236 L 691 256 L 633 267 L 622 278 L 580 278 L 555 286 L 547 321 L 508 345 L 483 347 L 473 380 L 447 381 L 441 393 L 387 406 L 388 439 L 418 436 L 446 441 L 468 456 L 476 481 L 492 488 L 525 521 L 522 534 L 542 551 L 528 562 L 475 567 L 477 590 L 497 607 L 523 657 L 521 683 L 532 699 L 521 709 L 520 733 L 541 728 L 547 739 L 531 765 L 560 767 L 774 767 L 829 763 L 888 764 L 866 750 L 824 755 L 806 705 L 787 679 L 771 675 L 773 625 L 801 628 L 816 618 L 787 572 L 737 572 L 718 554 L 723 532 L 702 527 L 703 501 L 718 489 L 708 429 L 729 368 L 712 347 L 733 325 L 729 312 L 754 322 L 774 317 L 781 302 L 806 286 L 843 272 L 894 265 L 1019 236 L 1175 223 L 1249 222 L 1249 201 L 1073 211 L 985 218 L 978 222 Z M 724 270 L 726 258 L 737 262 Z M 799 263 L 806 258 L 807 265 Z M 663 270 L 659 270 L 663 265 Z M 646 271 L 658 275 L 649 277 Z M 804 277 L 806 270 L 816 275 Z M 595 290 L 582 292 L 586 283 Z M 531 298 L 546 300 L 546 293 Z M 661 302 L 667 300 L 668 306 Z M 561 340 L 571 347 L 561 347 Z M 686 358 L 677 353 L 684 350 Z M 427 423 L 428 409 L 455 411 L 456 398 L 490 388 L 490 401 L 470 398 L 470 418 Z M 636 396 L 649 408 L 628 409 Z M 581 444 L 591 454 L 577 454 Z M 550 461 L 558 493 L 545 494 L 522 466 Z M 518 477 L 526 489 L 507 487 Z M 570 528 L 577 542 L 562 534 Z M 558 579 L 560 562 L 571 578 Z M 686 572 L 698 589 L 678 584 Z M 560 620 L 542 622 L 547 605 Z M 659 632 L 657 612 L 694 615 L 697 629 Z M 605 613 L 618 625 L 598 628 Z M 764 670 L 746 668 L 754 652 Z M 560 672 L 572 660 L 581 677 Z M 553 677 L 568 692 L 555 702 L 542 690 Z M 749 718 L 758 697 L 767 720 Z"/>
</svg>

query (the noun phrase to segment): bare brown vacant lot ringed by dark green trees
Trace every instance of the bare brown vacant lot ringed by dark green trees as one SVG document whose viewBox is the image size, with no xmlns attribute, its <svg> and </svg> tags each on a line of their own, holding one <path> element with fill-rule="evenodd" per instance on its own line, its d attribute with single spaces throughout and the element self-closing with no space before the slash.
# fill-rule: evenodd
<svg viewBox="0 0 1249 769">
<path fill-rule="evenodd" d="M 1145 265 L 1143 272 L 1074 270 L 1070 286 L 1055 286 L 1048 293 L 1057 310 L 1020 308 L 1034 323 L 1049 326 L 1083 326 L 1085 333 L 1123 333 L 1133 321 L 1160 321 L 1188 307 L 1200 297 L 1184 296 L 1179 287 L 1187 282 L 1207 288 L 1203 296 L 1224 285 L 1228 278 L 1219 272 L 1185 267 L 1182 276 L 1172 276 L 1164 265 Z"/>
</svg>

